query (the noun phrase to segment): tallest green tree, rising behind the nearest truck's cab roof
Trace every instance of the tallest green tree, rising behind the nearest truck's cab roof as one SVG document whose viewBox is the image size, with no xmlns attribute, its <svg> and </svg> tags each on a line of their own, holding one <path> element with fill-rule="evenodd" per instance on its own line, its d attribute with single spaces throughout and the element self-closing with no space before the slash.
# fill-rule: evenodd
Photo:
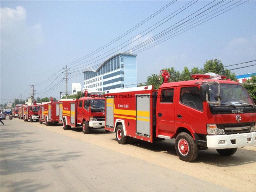
<svg viewBox="0 0 256 192">
<path fill-rule="evenodd" d="M 224 65 L 222 64 L 221 60 L 218 59 L 212 59 L 212 60 L 207 60 L 204 63 L 204 68 L 202 69 L 203 74 L 205 73 L 216 73 L 219 75 L 225 75 L 227 76 L 228 79 L 231 79 L 232 81 L 236 81 L 236 74 L 231 73 L 230 70 L 227 68 L 224 69 Z"/>
</svg>

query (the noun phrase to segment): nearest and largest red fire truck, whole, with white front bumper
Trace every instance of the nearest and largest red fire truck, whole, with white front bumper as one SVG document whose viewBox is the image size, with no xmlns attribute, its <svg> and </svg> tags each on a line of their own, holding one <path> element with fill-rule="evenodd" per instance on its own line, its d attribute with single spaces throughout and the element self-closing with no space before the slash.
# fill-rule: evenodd
<svg viewBox="0 0 256 192">
<path fill-rule="evenodd" d="M 172 83 L 168 73 L 162 76 L 158 90 L 150 85 L 106 94 L 105 129 L 116 132 L 119 144 L 175 138 L 176 152 L 187 162 L 198 150 L 230 156 L 256 144 L 256 107 L 242 85 L 217 74 Z"/>
</svg>

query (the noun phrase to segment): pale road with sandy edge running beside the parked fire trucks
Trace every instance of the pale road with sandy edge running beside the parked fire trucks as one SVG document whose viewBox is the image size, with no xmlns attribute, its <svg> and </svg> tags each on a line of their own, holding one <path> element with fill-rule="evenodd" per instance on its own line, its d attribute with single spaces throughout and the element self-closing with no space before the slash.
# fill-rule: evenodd
<svg viewBox="0 0 256 192">
<path fill-rule="evenodd" d="M 1 191 L 255 191 L 255 146 L 223 157 L 179 160 L 173 141 L 119 145 L 103 129 L 85 135 L 17 118 L 1 130 Z"/>
</svg>

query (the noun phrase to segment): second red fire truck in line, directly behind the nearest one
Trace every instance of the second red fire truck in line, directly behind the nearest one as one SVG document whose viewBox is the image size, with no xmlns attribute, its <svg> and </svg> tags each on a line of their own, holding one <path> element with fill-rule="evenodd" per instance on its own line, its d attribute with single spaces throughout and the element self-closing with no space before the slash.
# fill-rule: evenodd
<svg viewBox="0 0 256 192">
<path fill-rule="evenodd" d="M 64 130 L 82 126 L 84 134 L 90 129 L 104 128 L 105 99 L 101 96 L 90 95 L 88 91 L 80 99 L 59 100 L 59 122 Z M 107 130 L 108 131 L 108 130 Z"/>
</svg>

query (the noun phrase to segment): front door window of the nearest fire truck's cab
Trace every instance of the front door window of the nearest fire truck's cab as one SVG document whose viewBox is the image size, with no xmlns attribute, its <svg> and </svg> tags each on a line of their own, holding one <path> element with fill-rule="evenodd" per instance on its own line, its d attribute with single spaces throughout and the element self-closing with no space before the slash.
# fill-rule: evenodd
<svg viewBox="0 0 256 192">
<path fill-rule="evenodd" d="M 203 102 L 198 87 L 183 87 L 180 90 L 180 103 L 203 111 Z"/>
</svg>

